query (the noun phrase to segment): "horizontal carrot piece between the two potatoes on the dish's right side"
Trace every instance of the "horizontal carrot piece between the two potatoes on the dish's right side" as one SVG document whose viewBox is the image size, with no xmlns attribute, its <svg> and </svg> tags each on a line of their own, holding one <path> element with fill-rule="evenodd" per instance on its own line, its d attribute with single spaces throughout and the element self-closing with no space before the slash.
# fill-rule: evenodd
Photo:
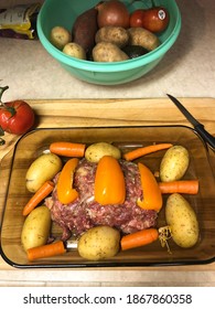
<svg viewBox="0 0 215 309">
<path fill-rule="evenodd" d="M 198 192 L 198 180 L 176 180 L 169 182 L 159 182 L 159 188 L 162 194 L 165 193 L 185 193 L 185 194 L 197 194 Z"/>
</svg>

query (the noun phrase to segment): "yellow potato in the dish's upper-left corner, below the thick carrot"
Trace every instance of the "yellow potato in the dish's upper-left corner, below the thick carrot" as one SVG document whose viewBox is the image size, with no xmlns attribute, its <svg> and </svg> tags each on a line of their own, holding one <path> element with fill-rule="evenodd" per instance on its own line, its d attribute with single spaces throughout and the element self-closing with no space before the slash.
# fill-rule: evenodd
<svg viewBox="0 0 215 309">
<path fill-rule="evenodd" d="M 26 189 L 34 193 L 45 181 L 52 180 L 62 169 L 62 160 L 54 153 L 41 154 L 30 166 L 25 175 Z"/>
</svg>

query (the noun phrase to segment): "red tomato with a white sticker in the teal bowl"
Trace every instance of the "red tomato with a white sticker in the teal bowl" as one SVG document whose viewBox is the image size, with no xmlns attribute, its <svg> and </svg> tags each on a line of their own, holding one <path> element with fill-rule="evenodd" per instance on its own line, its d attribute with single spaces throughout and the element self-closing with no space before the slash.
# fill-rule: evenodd
<svg viewBox="0 0 215 309">
<path fill-rule="evenodd" d="M 165 30 L 170 21 L 166 9 L 155 7 L 144 11 L 142 26 L 151 32 L 161 32 Z"/>
</svg>

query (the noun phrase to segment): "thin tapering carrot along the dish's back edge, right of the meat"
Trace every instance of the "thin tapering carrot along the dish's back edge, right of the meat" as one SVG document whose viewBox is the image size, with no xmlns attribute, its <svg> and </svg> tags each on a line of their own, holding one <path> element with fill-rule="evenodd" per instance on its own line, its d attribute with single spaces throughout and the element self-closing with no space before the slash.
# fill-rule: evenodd
<svg viewBox="0 0 215 309">
<path fill-rule="evenodd" d="M 168 149 L 172 146 L 173 146 L 172 143 L 154 143 L 154 145 L 150 145 L 150 146 L 146 146 L 146 147 L 140 147 L 140 148 L 137 148 L 135 150 L 131 150 L 131 151 L 125 153 L 123 158 L 127 161 L 132 161 L 142 156 L 146 156 L 146 154 L 159 151 L 159 150 Z"/>
</svg>

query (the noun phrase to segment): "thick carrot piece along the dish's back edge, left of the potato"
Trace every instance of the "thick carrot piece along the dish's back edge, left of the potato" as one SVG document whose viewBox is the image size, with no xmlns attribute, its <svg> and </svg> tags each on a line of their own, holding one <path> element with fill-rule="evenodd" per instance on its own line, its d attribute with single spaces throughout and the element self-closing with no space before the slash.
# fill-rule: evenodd
<svg viewBox="0 0 215 309">
<path fill-rule="evenodd" d="M 85 154 L 85 147 L 84 143 L 55 141 L 50 145 L 50 151 L 58 156 L 82 158 Z"/>
</svg>

